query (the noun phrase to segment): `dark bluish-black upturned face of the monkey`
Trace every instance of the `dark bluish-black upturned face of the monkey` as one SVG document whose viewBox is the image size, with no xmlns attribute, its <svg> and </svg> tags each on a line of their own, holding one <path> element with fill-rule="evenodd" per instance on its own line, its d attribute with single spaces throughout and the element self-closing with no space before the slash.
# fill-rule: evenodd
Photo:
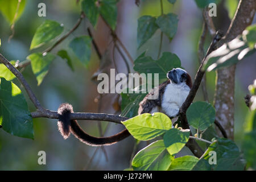
<svg viewBox="0 0 256 182">
<path fill-rule="evenodd" d="M 188 75 L 184 69 L 181 68 L 174 68 L 170 72 L 167 73 L 167 77 L 174 83 L 174 84 L 181 84 L 187 81 Z"/>
</svg>

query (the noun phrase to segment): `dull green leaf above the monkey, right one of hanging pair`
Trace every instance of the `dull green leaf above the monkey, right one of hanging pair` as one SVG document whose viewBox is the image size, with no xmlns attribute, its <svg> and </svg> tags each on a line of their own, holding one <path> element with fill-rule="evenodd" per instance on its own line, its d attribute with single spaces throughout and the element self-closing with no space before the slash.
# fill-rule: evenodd
<svg viewBox="0 0 256 182">
<path fill-rule="evenodd" d="M 156 24 L 158 24 L 160 30 L 171 40 L 177 32 L 178 20 L 176 14 L 170 13 L 159 16 L 158 19 L 156 19 Z"/>
</svg>

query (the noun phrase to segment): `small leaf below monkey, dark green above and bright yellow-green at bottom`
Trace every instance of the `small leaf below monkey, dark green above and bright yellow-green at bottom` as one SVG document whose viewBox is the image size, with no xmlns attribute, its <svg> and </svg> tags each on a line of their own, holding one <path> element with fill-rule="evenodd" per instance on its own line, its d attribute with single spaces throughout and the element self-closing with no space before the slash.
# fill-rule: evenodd
<svg viewBox="0 0 256 182">
<path fill-rule="evenodd" d="M 188 142 L 189 130 L 170 129 L 164 134 L 164 145 L 169 154 L 177 154 Z"/>
</svg>

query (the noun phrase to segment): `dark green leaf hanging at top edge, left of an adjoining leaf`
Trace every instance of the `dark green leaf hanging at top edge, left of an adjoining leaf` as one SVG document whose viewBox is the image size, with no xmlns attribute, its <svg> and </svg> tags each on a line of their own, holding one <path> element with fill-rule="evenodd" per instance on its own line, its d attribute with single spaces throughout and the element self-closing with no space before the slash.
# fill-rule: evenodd
<svg viewBox="0 0 256 182">
<path fill-rule="evenodd" d="M 90 20 L 90 23 L 95 26 L 99 15 L 99 10 L 96 6 L 96 0 L 84 0 L 81 2 L 81 7 L 86 17 Z"/>
</svg>

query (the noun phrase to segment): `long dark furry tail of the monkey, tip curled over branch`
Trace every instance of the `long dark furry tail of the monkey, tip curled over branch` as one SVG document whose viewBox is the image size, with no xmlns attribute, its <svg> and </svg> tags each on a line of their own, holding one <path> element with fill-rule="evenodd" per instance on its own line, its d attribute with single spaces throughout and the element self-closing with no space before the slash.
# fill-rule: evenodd
<svg viewBox="0 0 256 182">
<path fill-rule="evenodd" d="M 70 104 L 61 104 L 58 109 L 59 121 L 57 123 L 60 133 L 64 139 L 67 139 L 72 133 L 77 139 L 90 146 L 106 146 L 119 142 L 130 136 L 127 129 L 110 137 L 93 137 L 81 129 L 76 120 L 70 119 L 70 113 L 73 113 L 73 107 Z"/>
</svg>

